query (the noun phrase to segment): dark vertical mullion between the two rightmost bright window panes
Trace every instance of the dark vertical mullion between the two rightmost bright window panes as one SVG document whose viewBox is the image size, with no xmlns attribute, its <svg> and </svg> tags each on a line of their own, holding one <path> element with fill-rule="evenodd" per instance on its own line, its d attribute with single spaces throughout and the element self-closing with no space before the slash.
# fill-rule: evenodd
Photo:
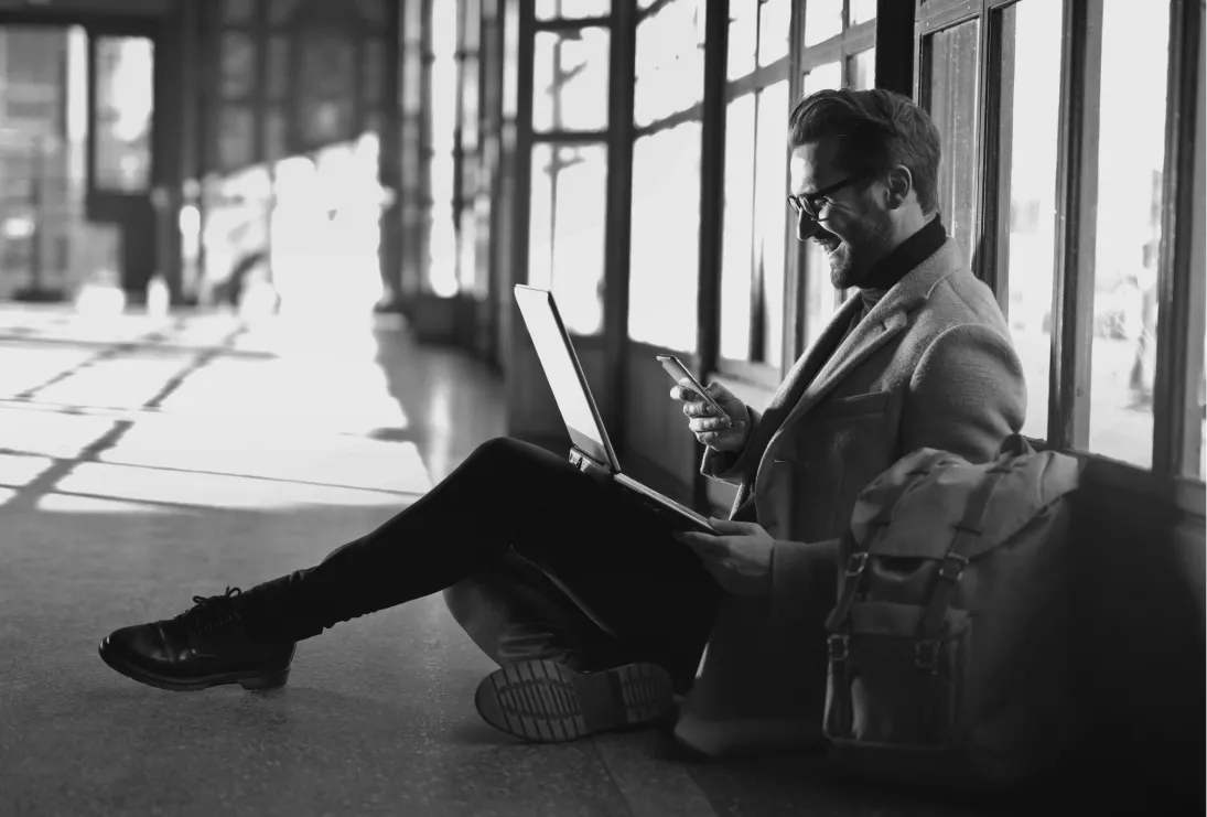
<svg viewBox="0 0 1207 817">
<path fill-rule="evenodd" d="M 1085 450 L 1090 440 L 1098 204 L 1101 2 L 1066 0 L 1061 37 L 1048 440 L 1056 449 Z"/>
</svg>

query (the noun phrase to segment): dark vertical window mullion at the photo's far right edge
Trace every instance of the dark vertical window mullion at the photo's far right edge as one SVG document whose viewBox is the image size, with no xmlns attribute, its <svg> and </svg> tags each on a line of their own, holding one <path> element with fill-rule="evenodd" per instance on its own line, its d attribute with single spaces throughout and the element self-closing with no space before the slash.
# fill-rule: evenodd
<svg viewBox="0 0 1207 817">
<path fill-rule="evenodd" d="M 1199 128 L 1207 93 L 1200 89 L 1203 12 L 1201 0 L 1173 0 L 1158 261 L 1156 373 L 1153 386 L 1153 471 L 1162 477 L 1197 475 L 1202 419 L 1203 241 L 1195 215 L 1207 209 Z M 1202 224 L 1200 224 L 1200 228 Z M 1201 232 L 1201 229 L 1199 230 Z M 1200 279 L 1195 281 L 1196 278 Z M 1197 332 L 1197 337 L 1195 337 Z"/>
</svg>

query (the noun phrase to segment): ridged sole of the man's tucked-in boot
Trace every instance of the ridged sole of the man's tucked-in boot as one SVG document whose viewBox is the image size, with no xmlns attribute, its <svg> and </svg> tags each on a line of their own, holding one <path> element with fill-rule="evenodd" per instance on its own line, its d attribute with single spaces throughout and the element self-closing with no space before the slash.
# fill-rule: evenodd
<svg viewBox="0 0 1207 817">
<path fill-rule="evenodd" d="M 542 743 L 649 724 L 671 716 L 670 675 L 655 664 L 577 672 L 554 661 L 524 661 L 486 676 L 474 706 L 483 720 Z"/>
</svg>

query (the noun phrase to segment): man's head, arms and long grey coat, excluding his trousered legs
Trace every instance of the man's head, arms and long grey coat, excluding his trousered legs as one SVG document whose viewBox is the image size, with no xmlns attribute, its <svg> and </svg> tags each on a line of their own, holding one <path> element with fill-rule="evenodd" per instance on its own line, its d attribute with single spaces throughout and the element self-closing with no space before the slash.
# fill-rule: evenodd
<svg viewBox="0 0 1207 817">
<path fill-rule="evenodd" d="M 797 235 L 855 294 L 763 413 L 710 385 L 750 413 L 748 432 L 672 390 L 707 447 L 704 473 L 739 486 L 721 536 L 680 537 L 730 593 L 677 728 L 709 753 L 817 741 L 822 623 L 859 492 L 919 448 L 987 461 L 1026 408 L 997 300 L 944 229 L 927 113 L 887 91 L 823 91 L 793 110 L 788 139 Z"/>
</svg>

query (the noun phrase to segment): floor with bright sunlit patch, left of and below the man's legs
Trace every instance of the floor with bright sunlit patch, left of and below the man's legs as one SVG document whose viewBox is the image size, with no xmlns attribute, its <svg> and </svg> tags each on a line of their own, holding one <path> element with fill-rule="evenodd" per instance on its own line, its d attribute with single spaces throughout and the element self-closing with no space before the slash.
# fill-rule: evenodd
<svg viewBox="0 0 1207 817">
<path fill-rule="evenodd" d="M 165 693 L 97 656 L 389 518 L 501 405 L 484 368 L 380 321 L 0 307 L 0 815 L 966 813 L 657 731 L 519 743 L 477 718 L 494 665 L 439 596 L 303 642 L 270 693 Z"/>
</svg>

